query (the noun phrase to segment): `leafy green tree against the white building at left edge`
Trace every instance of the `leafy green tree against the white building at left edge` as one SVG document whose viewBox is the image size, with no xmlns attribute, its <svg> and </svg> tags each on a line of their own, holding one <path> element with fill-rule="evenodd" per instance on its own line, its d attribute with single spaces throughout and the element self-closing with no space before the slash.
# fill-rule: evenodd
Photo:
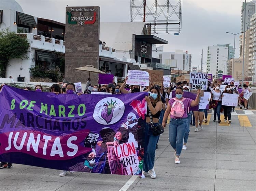
<svg viewBox="0 0 256 191">
<path fill-rule="evenodd" d="M 26 38 L 22 38 L 8 29 L 0 31 L 0 76 L 5 77 L 9 60 L 24 59 L 28 52 L 29 43 Z"/>
</svg>

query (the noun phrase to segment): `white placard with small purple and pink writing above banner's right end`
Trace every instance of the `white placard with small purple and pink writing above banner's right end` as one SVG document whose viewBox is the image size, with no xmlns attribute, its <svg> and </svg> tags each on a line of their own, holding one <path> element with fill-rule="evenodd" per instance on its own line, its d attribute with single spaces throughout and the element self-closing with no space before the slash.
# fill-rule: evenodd
<svg viewBox="0 0 256 191">
<path fill-rule="evenodd" d="M 142 70 L 128 70 L 128 80 L 126 84 L 149 86 L 149 74 Z"/>
</svg>

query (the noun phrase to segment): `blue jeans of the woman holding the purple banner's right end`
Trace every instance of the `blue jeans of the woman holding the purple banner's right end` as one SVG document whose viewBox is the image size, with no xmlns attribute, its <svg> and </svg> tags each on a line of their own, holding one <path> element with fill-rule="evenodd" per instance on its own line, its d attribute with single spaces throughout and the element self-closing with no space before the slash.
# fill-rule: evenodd
<svg viewBox="0 0 256 191">
<path fill-rule="evenodd" d="M 158 125 L 159 123 L 154 123 Z M 156 143 L 159 136 L 154 136 L 150 130 L 150 124 L 146 123 L 144 130 L 144 163 L 143 170 L 148 172 L 154 167 L 156 155 Z"/>
</svg>

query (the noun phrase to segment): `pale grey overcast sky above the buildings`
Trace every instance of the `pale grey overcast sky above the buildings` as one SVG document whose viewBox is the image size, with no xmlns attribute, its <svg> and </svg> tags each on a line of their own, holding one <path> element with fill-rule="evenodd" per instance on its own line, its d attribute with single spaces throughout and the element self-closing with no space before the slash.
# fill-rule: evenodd
<svg viewBox="0 0 256 191">
<path fill-rule="evenodd" d="M 101 22 L 129 22 L 130 0 L 16 0 L 24 13 L 36 17 L 65 22 L 65 7 L 100 6 Z M 151 4 L 152 0 L 148 0 Z M 166 0 L 158 0 L 165 3 Z M 170 0 L 177 2 L 177 0 Z M 217 44 L 231 44 L 234 36 L 226 32 L 238 33 L 241 25 L 241 6 L 243 0 L 183 0 L 182 30 L 179 36 L 173 34 L 157 35 L 169 44 L 164 50 L 188 50 L 192 54 L 192 65 L 201 67 L 207 61 L 207 47 Z M 239 56 L 239 37 L 236 38 L 236 58 Z M 206 67 L 206 64 L 204 64 Z"/>
</svg>

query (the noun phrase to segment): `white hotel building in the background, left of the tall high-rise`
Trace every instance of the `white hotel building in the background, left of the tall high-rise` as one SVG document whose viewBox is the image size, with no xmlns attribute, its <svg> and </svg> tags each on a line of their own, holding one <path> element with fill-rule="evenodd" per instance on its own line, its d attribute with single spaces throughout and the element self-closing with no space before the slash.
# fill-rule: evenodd
<svg viewBox="0 0 256 191">
<path fill-rule="evenodd" d="M 164 52 L 163 46 L 153 46 L 152 47 L 152 57 L 160 59 L 160 64 L 172 65 L 172 61 L 175 60 L 175 66 L 177 62 L 177 67 L 172 68 L 173 70 L 191 70 L 191 54 L 188 51 L 175 50 L 175 52 Z"/>
</svg>

